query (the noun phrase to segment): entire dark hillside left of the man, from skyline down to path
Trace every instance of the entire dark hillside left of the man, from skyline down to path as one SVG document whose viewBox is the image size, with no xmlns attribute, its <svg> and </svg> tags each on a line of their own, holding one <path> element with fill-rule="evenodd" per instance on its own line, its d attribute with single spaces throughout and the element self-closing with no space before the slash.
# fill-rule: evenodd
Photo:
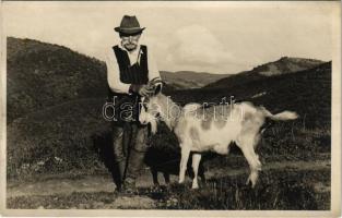
<svg viewBox="0 0 342 218">
<path fill-rule="evenodd" d="M 91 136 L 109 129 L 102 118 L 104 63 L 66 47 L 12 37 L 7 62 L 8 175 L 98 162 Z"/>
</svg>

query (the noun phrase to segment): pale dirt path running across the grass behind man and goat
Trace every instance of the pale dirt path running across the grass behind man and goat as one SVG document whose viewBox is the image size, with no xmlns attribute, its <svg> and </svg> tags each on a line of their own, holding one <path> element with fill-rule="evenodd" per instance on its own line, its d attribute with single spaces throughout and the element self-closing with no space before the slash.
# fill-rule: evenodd
<svg viewBox="0 0 342 218">
<path fill-rule="evenodd" d="M 271 169 L 330 169 L 330 160 L 320 161 L 283 161 L 283 162 L 268 162 L 263 166 L 262 170 Z M 226 175 L 236 175 L 240 173 L 246 173 L 247 168 L 244 169 L 229 169 L 220 168 L 208 170 L 205 175 L 208 179 L 211 178 L 222 178 Z M 177 182 L 178 177 L 172 175 L 172 182 Z M 160 173 L 160 182 L 163 183 L 164 180 Z M 139 186 L 151 186 L 153 184 L 152 177 L 149 170 L 145 170 L 141 177 L 138 179 Z M 27 183 L 9 183 L 7 187 L 7 197 L 16 196 L 32 196 L 32 195 L 54 195 L 54 194 L 70 194 L 72 192 L 113 192 L 115 190 L 115 184 L 108 173 L 108 175 L 85 175 L 80 179 L 47 179 L 42 182 L 27 182 Z"/>
</svg>

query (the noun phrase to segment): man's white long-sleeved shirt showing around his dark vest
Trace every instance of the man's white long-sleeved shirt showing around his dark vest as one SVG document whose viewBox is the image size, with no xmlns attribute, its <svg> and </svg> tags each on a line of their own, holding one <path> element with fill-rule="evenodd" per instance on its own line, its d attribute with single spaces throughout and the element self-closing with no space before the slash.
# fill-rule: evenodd
<svg viewBox="0 0 342 218">
<path fill-rule="evenodd" d="M 140 63 L 140 53 L 142 50 L 140 49 L 140 45 L 138 45 L 137 49 L 129 52 L 121 45 L 119 48 L 125 50 L 128 53 L 130 64 L 134 64 L 135 62 Z M 114 49 L 110 48 L 106 53 L 106 65 L 107 65 L 107 81 L 110 89 L 115 93 L 123 93 L 129 94 L 129 87 L 131 84 L 125 84 L 120 81 L 120 69 L 117 62 Z M 153 78 L 161 78 L 160 71 L 157 65 L 153 59 L 153 55 L 151 55 L 151 50 L 148 47 L 148 66 L 149 66 L 149 81 Z"/>
</svg>

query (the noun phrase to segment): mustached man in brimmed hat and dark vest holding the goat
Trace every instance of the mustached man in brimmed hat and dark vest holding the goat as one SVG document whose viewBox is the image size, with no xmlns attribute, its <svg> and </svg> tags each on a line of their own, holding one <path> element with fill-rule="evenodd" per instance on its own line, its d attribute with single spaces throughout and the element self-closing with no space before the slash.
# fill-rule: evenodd
<svg viewBox="0 0 342 218">
<path fill-rule="evenodd" d="M 144 27 L 140 27 L 137 17 L 125 15 L 115 31 L 121 43 L 109 49 L 106 60 L 109 98 L 116 108 L 113 146 L 121 184 L 133 191 L 148 149 L 149 129 L 139 123 L 139 102 L 141 97 L 153 95 L 162 83 L 150 50 L 139 44 Z"/>
</svg>

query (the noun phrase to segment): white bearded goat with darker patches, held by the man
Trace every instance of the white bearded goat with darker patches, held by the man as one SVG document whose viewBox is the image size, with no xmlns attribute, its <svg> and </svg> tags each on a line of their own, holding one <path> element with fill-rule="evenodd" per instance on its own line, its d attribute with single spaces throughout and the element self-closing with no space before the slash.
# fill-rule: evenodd
<svg viewBox="0 0 342 218">
<path fill-rule="evenodd" d="M 261 170 L 259 156 L 255 153 L 261 135 L 261 126 L 266 118 L 271 120 L 295 120 L 297 113 L 283 111 L 272 114 L 263 107 L 255 107 L 244 101 L 231 105 L 203 108 L 199 104 L 185 107 L 176 105 L 169 97 L 158 93 L 143 99 L 139 116 L 142 124 L 151 123 L 152 132 L 156 132 L 157 120 L 163 120 L 178 137 L 181 148 L 179 165 L 179 183 L 184 183 L 190 152 L 192 155 L 192 189 L 198 189 L 198 169 L 201 153 L 205 150 L 226 155 L 234 142 L 243 152 L 250 168 L 246 184 L 256 185 Z M 219 114 L 219 116 L 217 116 Z"/>
</svg>

